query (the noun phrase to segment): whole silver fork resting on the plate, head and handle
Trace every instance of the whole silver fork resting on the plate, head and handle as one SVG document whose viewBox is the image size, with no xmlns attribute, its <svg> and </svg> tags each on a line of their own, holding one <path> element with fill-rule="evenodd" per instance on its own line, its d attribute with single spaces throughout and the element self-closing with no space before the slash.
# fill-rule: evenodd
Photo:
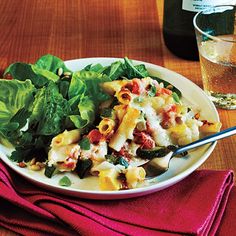
<svg viewBox="0 0 236 236">
<path fill-rule="evenodd" d="M 155 177 L 166 172 L 169 169 L 169 163 L 172 157 L 180 153 L 186 152 L 190 149 L 202 146 L 207 143 L 212 143 L 216 140 L 223 139 L 234 134 L 236 134 L 236 126 L 222 130 L 218 133 L 206 136 L 202 139 L 189 143 L 185 146 L 179 147 L 174 151 L 170 151 L 168 154 L 166 154 L 163 157 L 153 158 L 152 160 L 141 165 L 146 171 L 146 174 L 147 174 L 146 178 Z"/>
</svg>

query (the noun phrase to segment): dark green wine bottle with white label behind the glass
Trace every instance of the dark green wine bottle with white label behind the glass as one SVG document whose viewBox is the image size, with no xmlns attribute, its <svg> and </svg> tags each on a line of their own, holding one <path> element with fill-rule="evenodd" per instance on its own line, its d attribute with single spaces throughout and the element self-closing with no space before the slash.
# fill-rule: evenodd
<svg viewBox="0 0 236 236">
<path fill-rule="evenodd" d="M 194 15 L 207 7 L 233 2 L 234 0 L 165 0 L 163 37 L 167 48 L 178 57 L 198 60 Z"/>
</svg>

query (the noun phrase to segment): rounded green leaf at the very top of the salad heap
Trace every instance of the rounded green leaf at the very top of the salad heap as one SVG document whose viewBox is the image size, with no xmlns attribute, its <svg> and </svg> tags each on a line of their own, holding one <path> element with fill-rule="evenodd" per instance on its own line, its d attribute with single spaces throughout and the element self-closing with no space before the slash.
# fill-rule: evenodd
<svg viewBox="0 0 236 236">
<path fill-rule="evenodd" d="M 62 61 L 60 58 L 53 56 L 51 54 L 44 55 L 40 57 L 35 65 L 38 68 L 41 68 L 43 70 L 51 71 L 55 74 L 57 74 L 57 71 L 59 68 L 63 69 L 63 72 L 71 72 L 66 66 L 64 61 Z"/>
</svg>

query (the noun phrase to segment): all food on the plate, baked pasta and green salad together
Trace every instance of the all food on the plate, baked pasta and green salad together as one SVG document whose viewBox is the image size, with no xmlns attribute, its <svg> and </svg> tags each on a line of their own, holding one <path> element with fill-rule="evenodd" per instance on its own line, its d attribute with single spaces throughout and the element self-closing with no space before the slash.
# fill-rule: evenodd
<svg viewBox="0 0 236 236">
<path fill-rule="evenodd" d="M 221 126 L 202 120 L 177 88 L 128 58 L 72 72 L 46 55 L 34 65 L 10 65 L 0 89 L 7 93 L 0 96 L 0 141 L 15 147 L 12 161 L 48 178 L 96 176 L 103 191 L 141 186 L 146 172 L 137 163 Z M 59 184 L 71 183 L 65 176 Z"/>
</svg>

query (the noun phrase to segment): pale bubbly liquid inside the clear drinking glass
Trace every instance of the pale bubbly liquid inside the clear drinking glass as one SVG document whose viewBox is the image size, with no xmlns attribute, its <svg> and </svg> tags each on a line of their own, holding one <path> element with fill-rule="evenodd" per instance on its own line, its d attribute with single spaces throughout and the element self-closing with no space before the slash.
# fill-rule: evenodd
<svg viewBox="0 0 236 236">
<path fill-rule="evenodd" d="M 235 40 L 236 36 L 220 38 Z M 236 109 L 236 42 L 205 41 L 199 54 L 206 93 L 216 106 Z"/>
</svg>

